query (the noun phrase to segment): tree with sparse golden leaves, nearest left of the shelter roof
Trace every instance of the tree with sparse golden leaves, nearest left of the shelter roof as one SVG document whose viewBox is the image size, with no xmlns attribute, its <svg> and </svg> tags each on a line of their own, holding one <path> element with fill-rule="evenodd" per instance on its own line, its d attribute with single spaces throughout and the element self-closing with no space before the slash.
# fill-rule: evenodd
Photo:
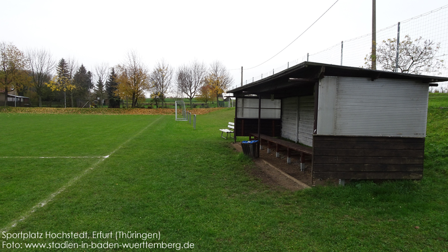
<svg viewBox="0 0 448 252">
<path fill-rule="evenodd" d="M 233 78 L 221 61 L 210 64 L 209 75 L 206 78 L 207 84 L 212 87 L 212 92 L 216 96 L 216 104 L 219 107 L 219 97 L 228 89 L 233 82 Z"/>
</svg>

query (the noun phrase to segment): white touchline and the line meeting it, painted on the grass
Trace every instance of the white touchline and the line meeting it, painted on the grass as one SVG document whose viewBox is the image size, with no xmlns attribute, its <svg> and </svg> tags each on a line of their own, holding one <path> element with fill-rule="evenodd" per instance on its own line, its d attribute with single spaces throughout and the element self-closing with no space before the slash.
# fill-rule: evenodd
<svg viewBox="0 0 448 252">
<path fill-rule="evenodd" d="M 82 178 L 85 174 L 87 174 L 89 171 L 95 169 L 95 167 L 100 164 L 101 162 L 103 162 L 106 158 L 108 158 L 110 155 L 114 154 L 116 151 L 118 151 L 119 149 L 121 149 L 121 147 L 125 144 L 127 144 L 129 141 L 131 141 L 132 139 L 134 139 L 135 137 L 137 137 L 138 135 L 140 135 L 143 131 L 145 131 L 147 128 L 149 128 L 149 126 L 153 125 L 155 122 L 157 122 L 160 118 L 157 118 L 156 120 L 152 121 L 150 124 L 148 124 L 148 126 L 146 126 L 145 128 L 143 128 L 141 131 L 139 131 L 137 134 L 135 134 L 134 136 L 132 136 L 131 138 L 129 138 L 128 140 L 126 140 L 124 143 L 122 143 L 120 146 L 118 146 L 114 151 L 112 151 L 109 155 L 107 156 L 103 156 L 103 157 L 94 157 L 94 158 L 102 158 L 101 160 L 99 160 L 98 162 L 96 162 L 95 164 L 92 165 L 92 167 L 88 168 L 87 170 L 85 170 L 81 175 L 78 175 L 76 177 L 74 177 L 72 180 L 70 180 L 69 182 L 67 182 L 67 184 L 65 184 L 64 186 L 62 186 L 61 188 L 59 188 L 56 192 L 50 194 L 50 196 L 48 196 L 48 198 L 46 198 L 45 200 L 37 203 L 37 205 L 35 205 L 34 207 L 32 207 L 29 211 L 27 211 L 25 214 L 23 214 L 21 217 L 19 217 L 16 220 L 13 220 L 9 225 L 7 225 L 6 227 L 4 227 L 3 229 L 0 230 L 1 232 L 8 232 L 9 229 L 17 226 L 17 223 L 24 221 L 26 218 L 28 218 L 32 213 L 34 213 L 38 208 L 41 208 L 43 206 L 45 206 L 46 204 L 48 204 L 50 201 L 52 201 L 54 199 L 54 197 L 56 197 L 58 194 L 62 193 L 63 191 L 65 191 L 65 189 L 69 188 L 73 183 L 75 183 L 76 181 L 78 181 L 80 178 Z M 7 157 L 3 157 L 3 158 L 7 158 Z M 12 158 L 12 157 L 11 157 Z M 26 157 L 24 157 L 26 158 Z M 45 157 L 39 157 L 39 158 L 45 158 Z M 47 157 L 47 158 L 53 158 L 53 157 Z M 58 158 L 58 157 L 54 157 L 54 158 Z M 59 157 L 60 158 L 60 157 Z"/>
</svg>

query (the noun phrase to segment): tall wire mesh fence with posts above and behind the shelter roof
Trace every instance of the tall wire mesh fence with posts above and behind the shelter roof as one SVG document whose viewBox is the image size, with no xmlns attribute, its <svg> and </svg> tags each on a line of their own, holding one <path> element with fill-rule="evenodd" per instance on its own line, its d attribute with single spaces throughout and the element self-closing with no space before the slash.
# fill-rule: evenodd
<svg viewBox="0 0 448 252">
<path fill-rule="evenodd" d="M 387 39 L 397 38 L 403 41 L 405 36 L 412 40 L 422 37 L 422 40 L 431 40 L 440 47 L 436 53 L 436 59 L 442 60 L 443 67 L 437 71 L 423 72 L 425 75 L 448 77 L 448 5 L 421 14 L 419 16 L 404 20 L 399 23 L 376 31 L 377 48 L 378 45 L 387 41 Z M 288 62 L 282 66 L 272 69 L 269 72 L 246 79 L 243 85 L 266 78 L 275 73 L 283 71 L 288 67 L 297 65 L 303 61 L 312 61 L 325 64 L 344 65 L 353 67 L 366 67 L 370 52 L 372 51 L 372 33 L 365 34 L 356 38 L 341 41 L 322 51 L 302 56 L 299 59 Z M 378 70 L 385 70 L 378 65 Z M 231 89 L 240 86 L 237 84 Z M 431 91 L 448 92 L 448 82 L 439 83 L 439 87 L 432 88 Z"/>
</svg>

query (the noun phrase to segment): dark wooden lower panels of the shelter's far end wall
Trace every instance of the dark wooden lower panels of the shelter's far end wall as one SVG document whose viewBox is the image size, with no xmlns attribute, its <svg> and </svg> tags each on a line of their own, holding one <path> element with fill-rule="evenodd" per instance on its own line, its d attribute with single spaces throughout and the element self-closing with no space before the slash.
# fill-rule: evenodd
<svg viewBox="0 0 448 252">
<path fill-rule="evenodd" d="M 236 118 L 235 136 L 249 136 L 258 132 L 258 119 Z M 261 134 L 278 137 L 281 134 L 281 119 L 261 119 Z"/>
</svg>

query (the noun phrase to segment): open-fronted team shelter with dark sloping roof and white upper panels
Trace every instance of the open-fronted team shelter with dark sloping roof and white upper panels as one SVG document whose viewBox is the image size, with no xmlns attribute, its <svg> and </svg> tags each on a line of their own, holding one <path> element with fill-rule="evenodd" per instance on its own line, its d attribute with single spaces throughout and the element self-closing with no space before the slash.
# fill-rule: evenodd
<svg viewBox="0 0 448 252">
<path fill-rule="evenodd" d="M 235 133 L 312 148 L 311 179 L 422 179 L 428 93 L 447 77 L 302 62 L 228 90 Z"/>
</svg>

